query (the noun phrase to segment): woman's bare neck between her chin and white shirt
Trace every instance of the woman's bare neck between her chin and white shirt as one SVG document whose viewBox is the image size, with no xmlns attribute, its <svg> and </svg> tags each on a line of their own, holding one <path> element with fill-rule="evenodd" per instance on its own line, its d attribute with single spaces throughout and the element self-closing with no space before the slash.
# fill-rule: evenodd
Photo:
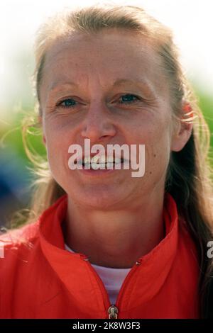
<svg viewBox="0 0 213 333">
<path fill-rule="evenodd" d="M 143 198 L 132 209 L 107 211 L 83 208 L 68 198 L 63 232 L 65 243 L 91 264 L 130 268 L 165 237 L 163 195 Z"/>
</svg>

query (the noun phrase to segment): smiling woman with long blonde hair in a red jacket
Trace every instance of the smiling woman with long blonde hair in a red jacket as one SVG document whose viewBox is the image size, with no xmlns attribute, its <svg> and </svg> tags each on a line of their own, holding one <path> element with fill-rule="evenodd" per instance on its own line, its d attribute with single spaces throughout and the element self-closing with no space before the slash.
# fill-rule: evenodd
<svg viewBox="0 0 213 333">
<path fill-rule="evenodd" d="M 35 59 L 48 166 L 34 218 L 1 235 L 1 317 L 209 317 L 207 125 L 170 30 L 136 6 L 76 9 L 40 28 Z M 86 170 L 90 152 L 70 169 L 85 140 L 144 145 L 145 173 Z"/>
</svg>

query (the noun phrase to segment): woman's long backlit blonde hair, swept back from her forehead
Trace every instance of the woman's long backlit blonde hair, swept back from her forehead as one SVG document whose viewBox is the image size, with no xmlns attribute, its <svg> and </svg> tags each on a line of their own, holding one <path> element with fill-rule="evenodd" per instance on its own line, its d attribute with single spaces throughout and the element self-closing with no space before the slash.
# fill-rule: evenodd
<svg viewBox="0 0 213 333">
<path fill-rule="evenodd" d="M 198 107 L 190 84 L 182 72 L 178 50 L 169 28 L 163 26 L 138 6 L 114 4 L 94 5 L 58 13 L 49 18 L 38 30 L 35 40 L 35 91 L 38 104 L 35 116 L 41 113 L 39 88 L 43 79 L 45 56 L 50 47 L 73 32 L 94 34 L 103 29 L 127 29 L 143 35 L 160 56 L 163 70 L 170 83 L 171 106 L 174 119 L 193 122 L 192 135 L 180 152 L 171 152 L 165 181 L 165 191 L 171 193 L 178 212 L 186 222 L 197 244 L 200 256 L 201 316 L 209 313 L 209 288 L 213 271 L 212 260 L 207 259 L 207 242 L 212 238 L 212 180 L 209 167 L 209 129 Z M 192 113 L 182 113 L 182 101 L 190 103 Z M 26 141 L 28 123 L 23 124 L 23 142 L 38 179 L 32 200 L 31 214 L 27 222 L 38 218 L 65 191 L 53 179 L 47 161 L 31 153 Z M 190 283 L 190 281 L 189 281 Z"/>
</svg>

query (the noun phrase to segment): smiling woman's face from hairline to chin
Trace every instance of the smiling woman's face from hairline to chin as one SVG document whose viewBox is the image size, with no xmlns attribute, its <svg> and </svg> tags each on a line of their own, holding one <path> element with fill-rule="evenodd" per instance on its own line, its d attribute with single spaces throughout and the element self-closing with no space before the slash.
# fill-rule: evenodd
<svg viewBox="0 0 213 333">
<path fill-rule="evenodd" d="M 75 33 L 53 45 L 45 60 L 40 108 L 51 172 L 72 201 L 120 208 L 163 191 L 170 151 L 182 144 L 173 133 L 160 58 L 144 38 L 106 30 Z M 90 176 L 71 170 L 68 147 L 84 148 L 85 138 L 106 152 L 107 145 L 145 145 L 145 174 L 132 177 L 132 169 L 117 169 Z"/>
</svg>

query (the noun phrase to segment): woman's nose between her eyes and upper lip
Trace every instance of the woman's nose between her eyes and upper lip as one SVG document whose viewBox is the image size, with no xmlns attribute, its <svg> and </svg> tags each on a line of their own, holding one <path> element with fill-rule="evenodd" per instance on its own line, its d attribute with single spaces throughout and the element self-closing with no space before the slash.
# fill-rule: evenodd
<svg viewBox="0 0 213 333">
<path fill-rule="evenodd" d="M 116 126 L 107 106 L 104 106 L 103 103 L 91 104 L 84 118 L 82 137 L 90 139 L 91 142 L 100 142 L 115 134 Z"/>
</svg>

